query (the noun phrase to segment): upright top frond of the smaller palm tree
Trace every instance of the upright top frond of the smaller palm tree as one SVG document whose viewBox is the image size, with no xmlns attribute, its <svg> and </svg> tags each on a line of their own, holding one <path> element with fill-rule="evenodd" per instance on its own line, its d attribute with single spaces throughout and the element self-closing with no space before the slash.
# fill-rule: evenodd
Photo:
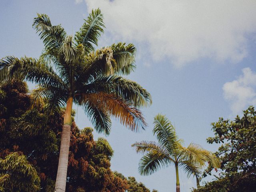
<svg viewBox="0 0 256 192">
<path fill-rule="evenodd" d="M 153 134 L 156 135 L 158 142 L 165 146 L 170 155 L 175 156 L 178 153 L 181 140 L 178 139 L 172 123 L 162 114 L 156 115 L 153 123 Z"/>
</svg>

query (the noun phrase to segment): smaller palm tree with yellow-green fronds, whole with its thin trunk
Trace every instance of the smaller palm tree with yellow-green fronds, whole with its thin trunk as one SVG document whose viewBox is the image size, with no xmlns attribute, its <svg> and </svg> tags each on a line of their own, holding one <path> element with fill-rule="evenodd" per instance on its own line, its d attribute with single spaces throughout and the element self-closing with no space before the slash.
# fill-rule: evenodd
<svg viewBox="0 0 256 192">
<path fill-rule="evenodd" d="M 158 143 L 153 141 L 142 141 L 132 144 L 137 153 L 145 154 L 139 162 L 139 173 L 149 175 L 161 167 L 175 166 L 176 191 L 180 192 L 179 168 L 188 174 L 193 174 L 198 179 L 200 169 L 206 162 L 214 167 L 220 167 L 216 156 L 196 144 L 182 146 L 182 140 L 176 135 L 174 126 L 166 116 L 158 114 L 154 118 L 153 134 L 156 135 Z"/>
</svg>

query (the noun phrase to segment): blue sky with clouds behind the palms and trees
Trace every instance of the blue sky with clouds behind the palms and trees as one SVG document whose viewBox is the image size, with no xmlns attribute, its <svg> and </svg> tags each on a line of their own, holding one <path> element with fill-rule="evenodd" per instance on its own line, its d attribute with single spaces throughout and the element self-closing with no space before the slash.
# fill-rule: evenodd
<svg viewBox="0 0 256 192">
<path fill-rule="evenodd" d="M 233 119 L 256 104 L 255 1 L 3 0 L 1 7 L 1 58 L 40 55 L 43 44 L 32 29 L 37 12 L 74 34 L 88 12 L 99 7 L 106 23 L 100 46 L 136 45 L 137 69 L 128 78 L 152 94 L 152 106 L 142 109 L 149 126 L 133 133 L 113 120 L 107 140 L 115 151 L 112 170 L 135 176 L 151 190 L 174 192 L 176 183 L 173 167 L 140 176 L 141 155 L 130 147 L 155 140 L 156 114 L 166 114 L 185 146 L 194 142 L 215 151 L 217 145 L 206 144 L 213 135 L 211 122 Z M 82 109 L 77 114 L 80 128 L 92 126 Z M 99 136 L 104 137 L 94 132 L 95 139 Z M 184 174 L 180 182 L 184 192 L 196 186 Z"/>
</svg>

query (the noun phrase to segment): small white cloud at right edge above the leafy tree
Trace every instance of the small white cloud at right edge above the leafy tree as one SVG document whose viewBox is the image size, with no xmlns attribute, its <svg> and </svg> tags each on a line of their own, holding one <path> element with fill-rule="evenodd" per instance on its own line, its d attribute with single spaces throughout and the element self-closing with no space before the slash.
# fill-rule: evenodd
<svg viewBox="0 0 256 192">
<path fill-rule="evenodd" d="M 240 114 L 249 105 L 256 104 L 256 73 L 250 68 L 244 68 L 242 72 L 237 80 L 226 82 L 222 87 L 233 114 Z"/>
</svg>

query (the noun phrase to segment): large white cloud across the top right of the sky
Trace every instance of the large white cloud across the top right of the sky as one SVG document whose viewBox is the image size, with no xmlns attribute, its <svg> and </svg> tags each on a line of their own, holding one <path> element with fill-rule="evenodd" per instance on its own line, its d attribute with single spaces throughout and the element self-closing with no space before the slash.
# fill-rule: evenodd
<svg viewBox="0 0 256 192">
<path fill-rule="evenodd" d="M 143 44 L 142 57 L 182 66 L 200 58 L 240 62 L 256 32 L 256 1 L 85 0 L 102 10 L 109 40 Z"/>
</svg>

